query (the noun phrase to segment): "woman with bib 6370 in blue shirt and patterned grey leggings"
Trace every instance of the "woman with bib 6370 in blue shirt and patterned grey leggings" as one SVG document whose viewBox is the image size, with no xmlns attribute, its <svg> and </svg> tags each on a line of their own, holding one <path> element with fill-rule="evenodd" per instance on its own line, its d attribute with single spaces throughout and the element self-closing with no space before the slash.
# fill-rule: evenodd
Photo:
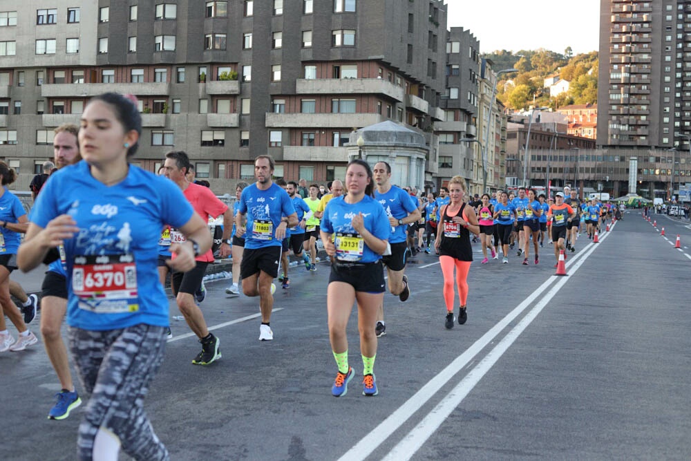
<svg viewBox="0 0 691 461">
<path fill-rule="evenodd" d="M 138 460 L 169 459 L 143 408 L 168 326 L 156 242 L 165 223 L 188 236 L 171 247 L 176 270 L 192 269 L 193 256 L 211 247 L 206 222 L 180 190 L 128 163 L 140 133 L 131 100 L 116 93 L 93 97 L 79 130 L 86 161 L 46 182 L 18 254 L 27 271 L 64 244 L 70 349 L 91 394 L 77 438 L 82 460 L 115 460 L 121 444 Z"/>
</svg>

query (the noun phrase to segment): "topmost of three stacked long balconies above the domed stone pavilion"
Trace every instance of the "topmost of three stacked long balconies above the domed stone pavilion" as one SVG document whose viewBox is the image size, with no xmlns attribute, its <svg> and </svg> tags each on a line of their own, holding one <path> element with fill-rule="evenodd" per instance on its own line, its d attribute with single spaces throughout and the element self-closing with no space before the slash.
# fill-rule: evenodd
<svg viewBox="0 0 691 461">
<path fill-rule="evenodd" d="M 297 79 L 295 93 L 299 95 L 385 95 L 392 100 L 403 102 L 404 89 L 388 80 L 379 78 L 344 79 Z"/>
</svg>

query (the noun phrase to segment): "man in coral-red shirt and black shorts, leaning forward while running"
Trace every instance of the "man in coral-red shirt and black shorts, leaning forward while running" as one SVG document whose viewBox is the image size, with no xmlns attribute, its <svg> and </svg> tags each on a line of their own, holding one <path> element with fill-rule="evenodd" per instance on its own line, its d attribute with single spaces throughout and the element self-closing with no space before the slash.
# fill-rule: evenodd
<svg viewBox="0 0 691 461">
<path fill-rule="evenodd" d="M 164 167 L 166 178 L 175 182 L 182 189 L 185 198 L 189 200 L 189 203 L 191 203 L 194 210 L 203 220 L 208 221 L 209 216 L 218 218 L 218 216 L 223 214 L 223 243 L 220 246 L 220 255 L 223 258 L 227 257 L 231 251 L 227 240 L 233 229 L 233 212 L 228 209 L 225 203 L 216 198 L 211 189 L 196 185 L 185 178 L 190 167 L 187 153 L 183 151 L 167 153 Z M 171 243 L 180 243 L 182 241 L 184 241 L 182 233 L 178 232 L 177 229 L 171 228 Z M 219 341 L 217 337 L 209 333 L 204 314 L 202 314 L 202 310 L 194 302 L 194 293 L 202 283 L 207 265 L 214 261 L 214 254 L 209 250 L 205 254 L 197 256 L 196 261 L 196 267 L 189 272 L 173 272 L 171 288 L 173 289 L 173 294 L 176 295 L 178 308 L 180 308 L 180 312 L 182 312 L 185 321 L 187 321 L 187 325 L 197 335 L 199 342 L 202 344 L 202 352 L 192 360 L 192 363 L 208 365 L 221 357 L 220 350 L 218 349 Z"/>
</svg>

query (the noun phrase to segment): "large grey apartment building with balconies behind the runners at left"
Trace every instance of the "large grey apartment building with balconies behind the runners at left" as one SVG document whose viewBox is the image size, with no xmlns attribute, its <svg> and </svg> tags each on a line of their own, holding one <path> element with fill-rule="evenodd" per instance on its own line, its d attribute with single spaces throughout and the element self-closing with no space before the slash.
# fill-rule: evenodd
<svg viewBox="0 0 691 461">
<path fill-rule="evenodd" d="M 118 91 L 142 112 L 134 162 L 187 151 L 220 194 L 261 153 L 342 178 L 350 133 L 385 120 L 424 134 L 436 174 L 446 44 L 442 0 L 1 2 L 0 158 L 26 189 L 53 128 Z"/>
</svg>

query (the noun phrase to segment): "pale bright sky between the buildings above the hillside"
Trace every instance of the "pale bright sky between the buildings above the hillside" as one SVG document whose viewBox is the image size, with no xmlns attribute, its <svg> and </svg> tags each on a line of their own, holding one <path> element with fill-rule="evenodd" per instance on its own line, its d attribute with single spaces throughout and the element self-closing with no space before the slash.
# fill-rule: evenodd
<svg viewBox="0 0 691 461">
<path fill-rule="evenodd" d="M 448 28 L 470 30 L 480 52 L 598 50 L 600 0 L 446 0 Z"/>
</svg>

